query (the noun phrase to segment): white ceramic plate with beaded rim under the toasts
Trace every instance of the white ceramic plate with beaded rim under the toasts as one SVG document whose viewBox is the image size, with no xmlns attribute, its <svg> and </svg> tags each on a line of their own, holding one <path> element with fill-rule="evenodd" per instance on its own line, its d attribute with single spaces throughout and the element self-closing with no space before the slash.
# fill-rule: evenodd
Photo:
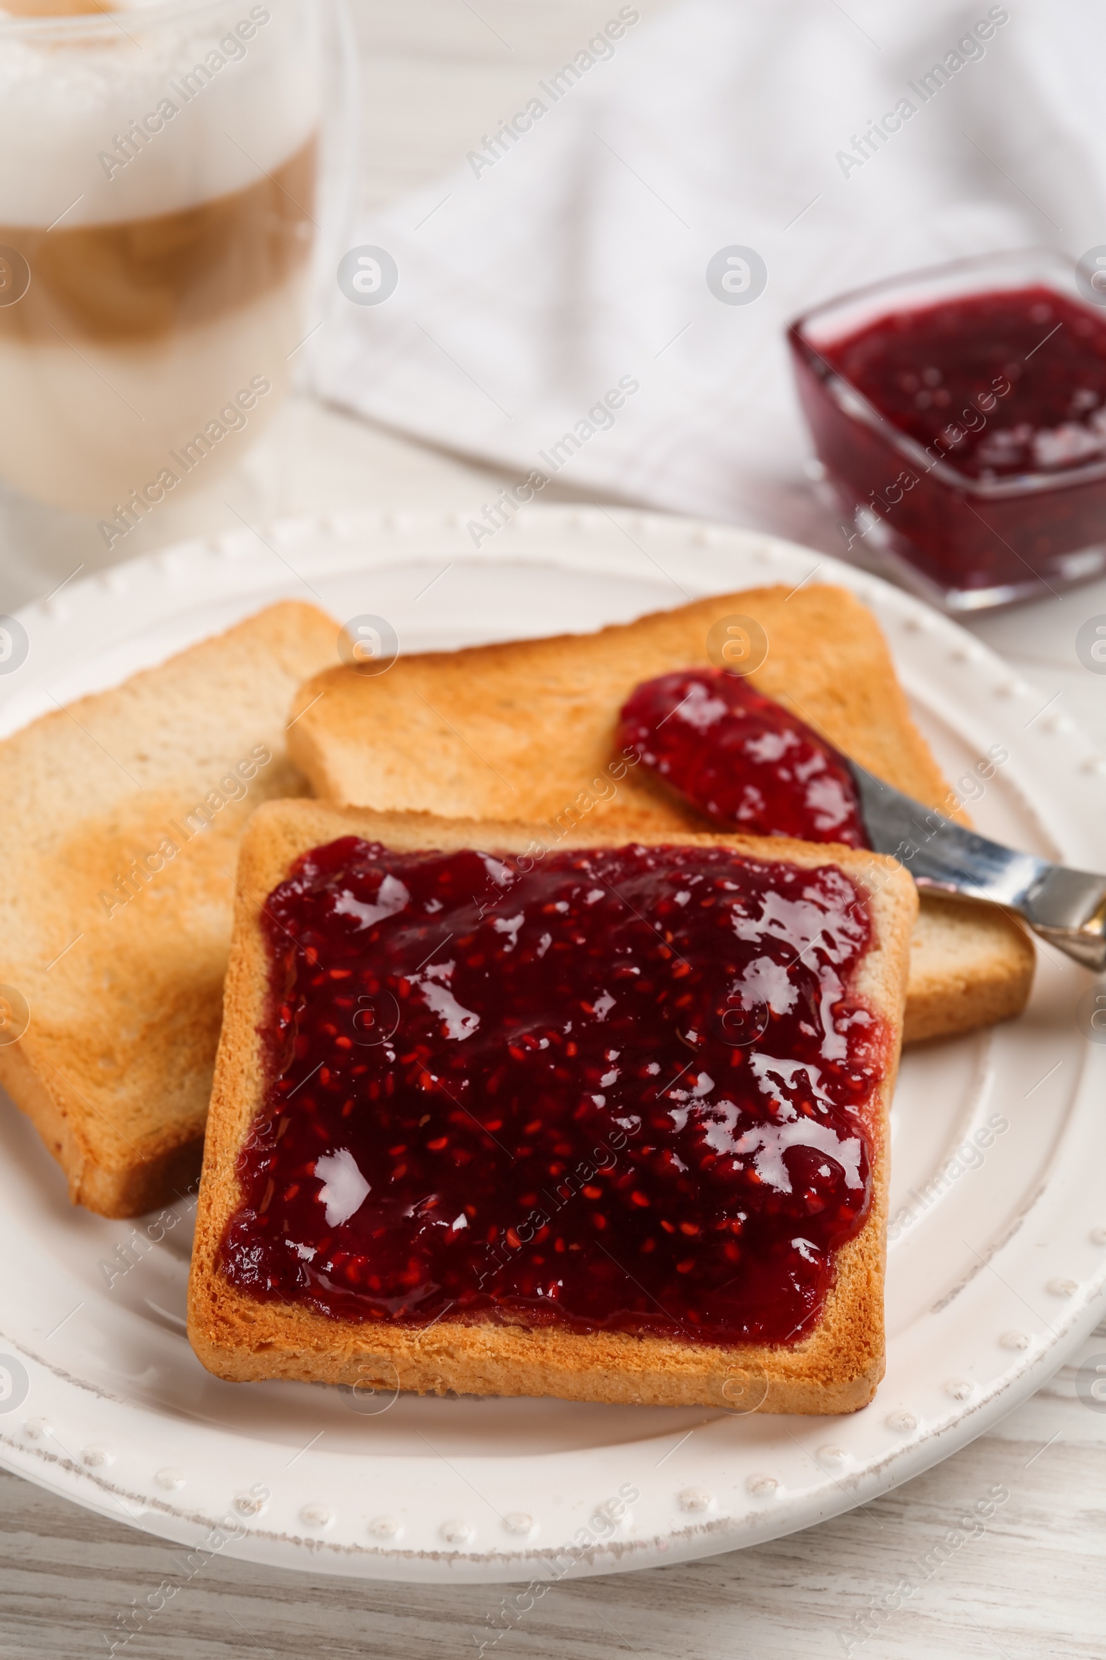
<svg viewBox="0 0 1106 1660">
<path fill-rule="evenodd" d="M 342 622 L 385 616 L 420 649 L 804 579 L 844 583 L 874 608 L 950 777 L 992 744 L 1010 750 L 973 807 L 985 830 L 1103 863 L 1101 757 L 968 634 L 803 548 L 648 515 L 536 508 L 479 551 L 466 515 L 285 521 L 181 544 L 22 613 L 30 656 L 0 677 L 0 732 L 289 594 Z M 1106 1047 L 1079 1029 L 1088 984 L 1041 953 L 1023 1019 L 905 1057 L 887 1378 L 872 1406 L 836 1419 L 406 1396 L 355 1409 L 323 1386 L 221 1383 L 184 1336 L 187 1205 L 172 1228 L 70 1208 L 3 1104 L 0 1459 L 194 1560 L 226 1549 L 378 1579 L 607 1574 L 846 1511 L 980 1434 L 1094 1325 Z M 101 1263 L 118 1270 L 119 1247 L 133 1267 L 109 1286 Z"/>
</svg>

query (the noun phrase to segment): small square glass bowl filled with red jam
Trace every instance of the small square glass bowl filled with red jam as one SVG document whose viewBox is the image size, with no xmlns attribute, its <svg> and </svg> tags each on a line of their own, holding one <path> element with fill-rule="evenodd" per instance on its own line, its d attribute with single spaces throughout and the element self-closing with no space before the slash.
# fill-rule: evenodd
<svg viewBox="0 0 1106 1660">
<path fill-rule="evenodd" d="M 1106 261 L 960 259 L 788 339 L 849 556 L 950 611 L 1106 571 Z"/>
</svg>

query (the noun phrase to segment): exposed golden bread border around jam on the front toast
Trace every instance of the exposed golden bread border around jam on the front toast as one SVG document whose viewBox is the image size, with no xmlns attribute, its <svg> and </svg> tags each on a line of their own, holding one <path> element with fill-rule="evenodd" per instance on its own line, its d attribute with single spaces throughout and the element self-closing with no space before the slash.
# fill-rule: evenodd
<svg viewBox="0 0 1106 1660">
<path fill-rule="evenodd" d="M 832 865 L 846 872 L 866 893 L 871 920 L 871 945 L 859 961 L 851 994 L 882 1018 L 887 1033 L 885 1064 L 862 1109 L 872 1149 L 871 1212 L 861 1232 L 836 1253 L 834 1278 L 817 1325 L 793 1346 L 713 1345 L 657 1333 L 597 1330 L 580 1335 L 567 1326 L 526 1325 L 519 1320 L 496 1323 L 483 1315 L 471 1315 L 464 1321 L 438 1318 L 423 1326 L 381 1320 L 361 1323 L 320 1313 L 307 1301 L 262 1300 L 224 1273 L 224 1233 L 242 1204 L 239 1155 L 274 1084 L 272 1031 L 277 1009 L 272 998 L 272 948 L 262 926 L 262 906 L 302 853 L 342 837 L 360 837 L 396 852 L 478 848 L 509 858 L 527 848 L 532 852 L 541 832 L 534 825 L 373 813 L 320 802 L 275 802 L 262 807 L 250 822 L 239 863 L 234 945 L 189 1283 L 189 1336 L 201 1361 L 217 1376 L 230 1379 L 298 1378 L 357 1386 L 371 1383 L 385 1389 L 421 1393 L 456 1389 L 479 1394 L 554 1394 L 667 1406 L 741 1406 L 769 1413 L 846 1413 L 864 1406 L 884 1371 L 887 1111 L 899 1057 L 909 940 L 917 913 L 914 883 L 902 868 L 894 860 L 872 853 L 816 848 L 799 842 L 721 835 L 678 838 L 685 848 L 723 847 L 735 855 L 774 865 Z M 660 847 L 672 845 L 673 838 L 663 832 L 647 832 L 635 840 Z M 565 838 L 565 845 L 572 848 L 623 842 L 625 837 L 617 832 L 604 833 L 599 827 L 579 828 Z M 735 858 L 735 872 L 740 863 Z M 502 933 L 496 938 L 502 938 Z M 539 954 L 544 950 L 542 943 Z M 317 963 L 318 958 L 312 951 L 307 961 Z M 579 1014 L 577 1006 L 572 1008 Z M 338 1041 L 345 1041 L 348 1049 L 348 1039 Z M 335 1049 L 335 1054 L 340 1051 Z M 433 1074 L 433 1059 L 426 1066 Z M 424 1074 L 423 1089 L 429 1087 L 429 1074 Z M 638 1087 L 643 1096 L 647 1086 Z M 380 1097 L 373 1094 L 373 1099 Z M 479 1097 L 471 1099 L 476 1104 Z M 434 1101 L 433 1092 L 426 1094 L 428 1109 Z M 499 1106 L 499 1097 L 496 1104 Z M 353 1101 L 345 1104 L 343 1119 L 352 1109 Z M 292 1097 L 287 1111 L 292 1112 Z M 318 1120 L 312 1116 L 313 1106 L 295 1111 L 305 1114 L 305 1124 L 318 1129 Z M 446 1114 L 448 1106 L 438 1111 Z M 431 1135 L 429 1130 L 424 1134 Z M 280 1140 L 280 1134 L 275 1140 Z M 390 1179 L 390 1172 L 370 1170 L 368 1175 L 378 1187 L 381 1179 L 385 1184 Z M 522 1185 L 529 1185 L 529 1180 L 532 1177 L 519 1177 Z M 272 1180 L 262 1210 L 270 1197 Z M 320 1197 L 325 1199 L 325 1194 Z M 327 1228 L 330 1227 L 328 1213 Z M 612 1243 L 617 1238 L 617 1233 L 612 1235 Z M 305 1247 L 297 1245 L 295 1250 L 303 1255 Z"/>
</svg>

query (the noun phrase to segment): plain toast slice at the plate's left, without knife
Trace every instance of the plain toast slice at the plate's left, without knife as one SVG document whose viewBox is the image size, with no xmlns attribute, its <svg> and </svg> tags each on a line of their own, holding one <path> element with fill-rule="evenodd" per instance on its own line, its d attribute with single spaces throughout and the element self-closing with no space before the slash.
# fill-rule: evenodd
<svg viewBox="0 0 1106 1660">
<path fill-rule="evenodd" d="M 199 1170 L 239 838 L 307 792 L 289 699 L 337 639 L 277 604 L 0 744 L 0 1084 L 101 1215 Z"/>
</svg>

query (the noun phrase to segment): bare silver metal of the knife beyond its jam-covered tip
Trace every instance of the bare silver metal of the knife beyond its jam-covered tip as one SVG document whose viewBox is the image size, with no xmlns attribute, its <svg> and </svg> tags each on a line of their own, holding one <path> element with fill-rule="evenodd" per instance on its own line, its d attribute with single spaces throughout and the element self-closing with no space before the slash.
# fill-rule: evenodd
<svg viewBox="0 0 1106 1660">
<path fill-rule="evenodd" d="M 872 852 L 902 860 L 919 888 L 1003 905 L 1076 963 L 1106 969 L 1106 876 L 1018 853 L 847 765 Z"/>
</svg>

